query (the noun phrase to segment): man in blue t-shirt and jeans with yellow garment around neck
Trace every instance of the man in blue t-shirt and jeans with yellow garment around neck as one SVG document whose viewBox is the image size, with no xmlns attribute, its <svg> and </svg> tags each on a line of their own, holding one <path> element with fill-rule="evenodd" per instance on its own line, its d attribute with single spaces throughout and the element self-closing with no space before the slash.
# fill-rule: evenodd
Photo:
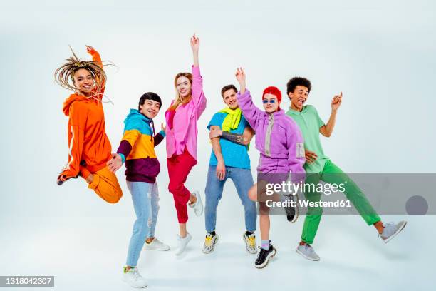
<svg viewBox="0 0 436 291">
<path fill-rule="evenodd" d="M 248 155 L 249 142 L 254 136 L 253 129 L 242 115 L 237 102 L 237 88 L 234 85 L 224 86 L 221 96 L 227 108 L 214 114 L 207 128 L 212 143 L 206 184 L 206 240 L 203 252 L 210 253 L 218 242 L 215 233 L 217 223 L 217 206 L 222 197 L 222 190 L 227 178 L 232 179 L 237 188 L 239 198 L 245 211 L 245 228 L 243 239 L 246 251 L 255 254 L 256 237 L 256 203 L 248 197 L 248 190 L 253 183 Z"/>
</svg>

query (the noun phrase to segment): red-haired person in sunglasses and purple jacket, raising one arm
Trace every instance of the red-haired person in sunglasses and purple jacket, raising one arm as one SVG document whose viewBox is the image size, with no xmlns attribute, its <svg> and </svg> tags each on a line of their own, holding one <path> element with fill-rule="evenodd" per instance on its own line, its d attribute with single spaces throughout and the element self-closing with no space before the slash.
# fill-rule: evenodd
<svg viewBox="0 0 436 291">
<path fill-rule="evenodd" d="M 296 123 L 280 109 L 281 92 L 268 87 L 262 95 L 265 111 L 257 108 L 246 90 L 246 77 L 242 68 L 237 69 L 240 90 L 237 101 L 244 117 L 256 132 L 256 149 L 260 152 L 257 183 L 249 190 L 251 200 L 259 202 L 261 251 L 254 263 L 257 268 L 265 267 L 276 255 L 276 249 L 269 240 L 269 208 L 265 203 L 267 183 L 281 183 L 291 173 L 292 183 L 303 183 L 305 163 L 303 137 Z"/>
</svg>

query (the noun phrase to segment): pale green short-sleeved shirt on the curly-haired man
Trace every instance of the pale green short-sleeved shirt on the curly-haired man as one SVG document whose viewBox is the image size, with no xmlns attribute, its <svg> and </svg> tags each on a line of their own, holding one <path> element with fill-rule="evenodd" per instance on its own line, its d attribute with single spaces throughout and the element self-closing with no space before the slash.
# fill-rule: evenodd
<svg viewBox="0 0 436 291">
<path fill-rule="evenodd" d="M 286 114 L 299 125 L 304 138 L 304 149 L 313 151 L 318 155 L 315 163 L 304 164 L 304 170 L 306 170 L 306 173 L 320 173 L 324 168 L 326 160 L 328 160 L 319 140 L 319 128 L 325 123 L 319 117 L 315 107 L 311 105 L 303 106 L 301 112 L 289 109 Z"/>
</svg>

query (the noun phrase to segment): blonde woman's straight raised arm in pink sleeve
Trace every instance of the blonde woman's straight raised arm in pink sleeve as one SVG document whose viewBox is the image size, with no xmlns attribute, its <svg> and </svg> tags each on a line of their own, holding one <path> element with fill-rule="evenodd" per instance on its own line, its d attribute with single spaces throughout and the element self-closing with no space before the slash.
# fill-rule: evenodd
<svg viewBox="0 0 436 291">
<path fill-rule="evenodd" d="M 199 70 L 198 51 L 199 51 L 199 38 L 195 34 L 190 39 L 192 48 L 193 65 L 192 65 L 192 101 L 197 110 L 197 118 L 202 115 L 206 109 L 206 97 L 203 93 L 203 78 Z"/>
</svg>

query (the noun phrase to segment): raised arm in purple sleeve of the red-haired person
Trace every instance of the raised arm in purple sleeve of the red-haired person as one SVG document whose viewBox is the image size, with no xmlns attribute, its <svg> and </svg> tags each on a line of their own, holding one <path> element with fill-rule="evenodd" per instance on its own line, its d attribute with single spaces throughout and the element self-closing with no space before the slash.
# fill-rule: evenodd
<svg viewBox="0 0 436 291">
<path fill-rule="evenodd" d="M 245 119 L 250 123 L 251 128 L 256 130 L 257 124 L 264 115 L 264 112 L 257 108 L 251 100 L 250 91 L 246 90 L 246 77 L 242 68 L 237 68 L 236 77 L 240 86 L 237 93 L 239 108 L 241 108 L 242 114 L 244 114 Z"/>
</svg>

